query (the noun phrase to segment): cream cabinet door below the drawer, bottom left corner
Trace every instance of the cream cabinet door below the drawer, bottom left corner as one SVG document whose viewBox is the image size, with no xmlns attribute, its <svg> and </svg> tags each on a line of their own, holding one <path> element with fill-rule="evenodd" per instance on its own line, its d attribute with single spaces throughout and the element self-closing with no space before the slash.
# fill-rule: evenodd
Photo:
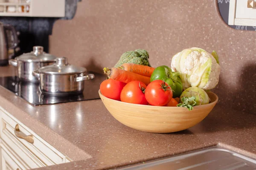
<svg viewBox="0 0 256 170">
<path fill-rule="evenodd" d="M 15 159 L 15 156 L 7 152 L 1 147 L 1 170 L 22 170 L 23 168 L 18 165 L 19 161 Z"/>
</svg>

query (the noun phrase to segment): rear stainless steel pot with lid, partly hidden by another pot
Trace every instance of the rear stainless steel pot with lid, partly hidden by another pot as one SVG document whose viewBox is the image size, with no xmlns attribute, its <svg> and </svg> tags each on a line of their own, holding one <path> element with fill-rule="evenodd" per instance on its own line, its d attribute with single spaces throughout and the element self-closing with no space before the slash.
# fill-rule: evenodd
<svg viewBox="0 0 256 170">
<path fill-rule="evenodd" d="M 25 53 L 15 59 L 10 59 L 9 64 L 17 67 L 18 78 L 29 82 L 38 82 L 32 72 L 38 68 L 55 63 L 56 57 L 44 52 L 44 47 L 34 46 L 33 51 Z"/>
</svg>

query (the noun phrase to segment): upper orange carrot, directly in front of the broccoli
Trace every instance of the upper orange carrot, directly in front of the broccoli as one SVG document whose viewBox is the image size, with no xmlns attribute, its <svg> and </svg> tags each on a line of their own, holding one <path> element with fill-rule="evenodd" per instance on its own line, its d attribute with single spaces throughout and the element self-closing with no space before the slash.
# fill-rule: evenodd
<svg viewBox="0 0 256 170">
<path fill-rule="evenodd" d="M 140 64 L 133 64 L 133 63 L 124 63 L 119 68 L 121 68 L 122 70 L 140 74 L 140 75 L 146 76 L 146 77 L 151 77 L 151 74 L 154 71 L 153 67 L 140 65 Z"/>
</svg>

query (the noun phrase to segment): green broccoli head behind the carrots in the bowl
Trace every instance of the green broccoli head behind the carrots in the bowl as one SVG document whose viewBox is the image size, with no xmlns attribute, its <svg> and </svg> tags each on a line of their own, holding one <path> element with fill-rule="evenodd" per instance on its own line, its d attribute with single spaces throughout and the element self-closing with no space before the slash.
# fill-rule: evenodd
<svg viewBox="0 0 256 170">
<path fill-rule="evenodd" d="M 124 54 L 122 54 L 119 61 L 116 63 L 114 67 L 118 68 L 124 63 L 134 63 L 151 67 L 148 58 L 148 51 L 142 49 L 137 49 L 135 51 L 127 51 Z"/>
</svg>

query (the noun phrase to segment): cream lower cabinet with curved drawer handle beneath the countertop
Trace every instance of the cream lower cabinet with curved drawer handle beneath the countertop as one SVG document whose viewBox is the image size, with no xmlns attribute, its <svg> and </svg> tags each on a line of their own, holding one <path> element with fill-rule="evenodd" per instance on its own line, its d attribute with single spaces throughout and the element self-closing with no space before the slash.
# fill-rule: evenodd
<svg viewBox="0 0 256 170">
<path fill-rule="evenodd" d="M 72 161 L 0 107 L 2 170 L 23 170 Z"/>
</svg>

